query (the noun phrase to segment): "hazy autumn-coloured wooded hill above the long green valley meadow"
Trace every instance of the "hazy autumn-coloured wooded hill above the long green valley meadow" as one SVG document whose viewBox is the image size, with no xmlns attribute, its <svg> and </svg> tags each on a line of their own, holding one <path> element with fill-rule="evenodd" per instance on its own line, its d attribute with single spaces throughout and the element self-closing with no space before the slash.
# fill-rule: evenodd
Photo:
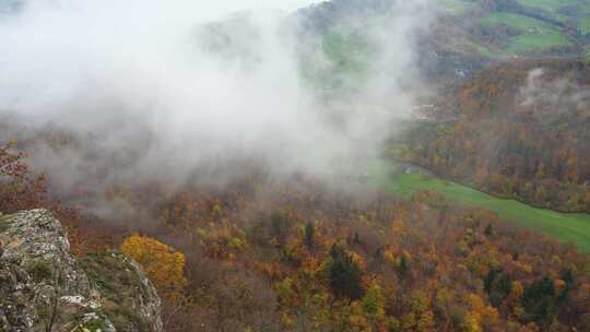
<svg viewBox="0 0 590 332">
<path fill-rule="evenodd" d="M 510 61 L 450 87 L 391 153 L 502 197 L 590 211 L 590 67 Z"/>
</svg>

